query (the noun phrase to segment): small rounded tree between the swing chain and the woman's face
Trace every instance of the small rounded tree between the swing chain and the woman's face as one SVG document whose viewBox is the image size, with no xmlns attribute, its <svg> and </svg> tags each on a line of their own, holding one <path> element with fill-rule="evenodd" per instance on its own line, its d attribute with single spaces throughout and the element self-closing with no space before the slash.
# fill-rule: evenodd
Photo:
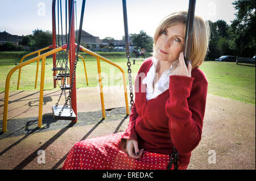
<svg viewBox="0 0 256 181">
<path fill-rule="evenodd" d="M 134 35 L 132 41 L 137 48 L 144 48 L 147 52 L 152 52 L 153 38 L 147 35 L 143 30 L 141 30 L 138 35 Z"/>
</svg>

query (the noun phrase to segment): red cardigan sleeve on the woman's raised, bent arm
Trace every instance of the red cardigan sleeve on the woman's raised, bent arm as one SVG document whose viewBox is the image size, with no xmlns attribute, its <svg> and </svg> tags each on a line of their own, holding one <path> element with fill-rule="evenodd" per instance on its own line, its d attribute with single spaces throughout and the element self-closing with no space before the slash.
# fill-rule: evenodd
<svg viewBox="0 0 256 181">
<path fill-rule="evenodd" d="M 166 113 L 172 143 L 181 154 L 191 152 L 201 140 L 207 87 L 206 78 L 170 76 Z"/>
</svg>

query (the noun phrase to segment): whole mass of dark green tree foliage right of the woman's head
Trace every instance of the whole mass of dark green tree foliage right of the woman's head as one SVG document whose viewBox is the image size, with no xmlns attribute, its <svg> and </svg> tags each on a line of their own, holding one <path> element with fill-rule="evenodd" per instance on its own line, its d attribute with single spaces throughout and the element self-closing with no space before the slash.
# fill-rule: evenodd
<svg viewBox="0 0 256 181">
<path fill-rule="evenodd" d="M 255 1 L 237 0 L 238 10 L 230 26 L 224 20 L 210 22 L 210 43 L 207 58 L 222 55 L 253 57 L 255 55 Z"/>
</svg>

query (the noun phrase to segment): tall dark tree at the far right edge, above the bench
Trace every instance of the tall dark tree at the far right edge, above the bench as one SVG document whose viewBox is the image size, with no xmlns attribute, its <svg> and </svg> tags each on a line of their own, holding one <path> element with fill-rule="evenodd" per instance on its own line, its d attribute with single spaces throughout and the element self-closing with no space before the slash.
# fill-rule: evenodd
<svg viewBox="0 0 256 181">
<path fill-rule="evenodd" d="M 255 1 L 237 0 L 232 5 L 238 10 L 231 24 L 237 55 L 252 57 L 255 55 Z"/>
</svg>

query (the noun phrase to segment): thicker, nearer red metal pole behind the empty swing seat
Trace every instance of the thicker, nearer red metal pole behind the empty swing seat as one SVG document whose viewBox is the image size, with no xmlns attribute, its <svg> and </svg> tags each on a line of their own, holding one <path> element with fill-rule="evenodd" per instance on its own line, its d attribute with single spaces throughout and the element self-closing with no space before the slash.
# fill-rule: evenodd
<svg viewBox="0 0 256 181">
<path fill-rule="evenodd" d="M 71 6 L 71 0 L 69 0 L 69 11 Z M 73 75 L 73 69 L 75 65 L 76 60 L 76 54 L 75 54 L 75 18 L 74 18 L 74 5 L 73 5 L 73 15 L 72 15 L 72 23 L 71 23 L 71 37 L 70 37 L 70 48 L 69 48 L 69 70 L 70 70 L 70 76 L 72 80 Z M 72 121 L 72 123 L 76 123 L 77 121 L 77 103 L 76 103 L 76 74 L 73 81 L 73 88 L 72 88 L 72 94 L 71 94 L 71 104 L 72 104 L 72 110 L 76 114 L 76 119 Z"/>
</svg>

